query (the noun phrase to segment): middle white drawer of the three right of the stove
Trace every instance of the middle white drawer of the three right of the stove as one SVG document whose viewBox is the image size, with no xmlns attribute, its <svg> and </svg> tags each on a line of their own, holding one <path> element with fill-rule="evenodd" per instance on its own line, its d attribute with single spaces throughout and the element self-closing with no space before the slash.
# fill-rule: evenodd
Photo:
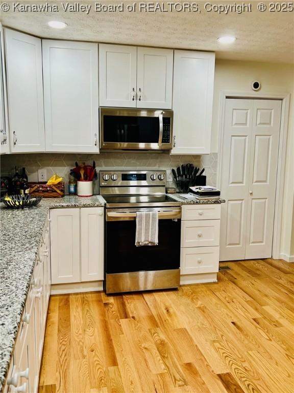
<svg viewBox="0 0 294 393">
<path fill-rule="evenodd" d="M 219 246 L 220 220 L 182 221 L 181 247 Z"/>
</svg>

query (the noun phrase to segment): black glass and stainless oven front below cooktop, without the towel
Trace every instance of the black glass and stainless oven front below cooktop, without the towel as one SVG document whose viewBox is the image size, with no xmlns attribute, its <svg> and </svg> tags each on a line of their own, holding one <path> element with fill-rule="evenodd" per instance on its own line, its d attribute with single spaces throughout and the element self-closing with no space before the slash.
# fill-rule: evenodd
<svg viewBox="0 0 294 393">
<path fill-rule="evenodd" d="M 158 245 L 135 246 L 136 211 L 158 210 Z M 181 208 L 106 209 L 106 293 L 177 288 Z"/>
</svg>

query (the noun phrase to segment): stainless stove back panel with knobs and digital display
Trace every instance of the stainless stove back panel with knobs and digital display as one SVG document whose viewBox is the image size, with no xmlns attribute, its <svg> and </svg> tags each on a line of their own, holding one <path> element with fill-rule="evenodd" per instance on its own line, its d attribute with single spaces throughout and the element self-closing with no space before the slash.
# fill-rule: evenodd
<svg viewBox="0 0 294 393">
<path fill-rule="evenodd" d="M 100 171 L 100 186 L 166 186 L 165 170 Z"/>
</svg>

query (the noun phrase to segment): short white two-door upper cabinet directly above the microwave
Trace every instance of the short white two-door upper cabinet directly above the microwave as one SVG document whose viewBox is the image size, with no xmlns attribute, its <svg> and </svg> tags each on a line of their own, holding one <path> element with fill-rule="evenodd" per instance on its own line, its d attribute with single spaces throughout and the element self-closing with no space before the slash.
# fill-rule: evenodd
<svg viewBox="0 0 294 393">
<path fill-rule="evenodd" d="M 171 108 L 172 49 L 99 46 L 100 106 Z"/>
</svg>

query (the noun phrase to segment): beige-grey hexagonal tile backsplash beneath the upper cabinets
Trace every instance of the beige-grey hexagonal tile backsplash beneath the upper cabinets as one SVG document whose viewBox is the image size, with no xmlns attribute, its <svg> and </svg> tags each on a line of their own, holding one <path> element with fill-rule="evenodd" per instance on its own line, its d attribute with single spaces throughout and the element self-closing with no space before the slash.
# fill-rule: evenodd
<svg viewBox="0 0 294 393">
<path fill-rule="evenodd" d="M 101 154 L 63 154 L 63 153 L 32 153 L 9 154 L 1 156 L 1 176 L 14 173 L 15 165 L 26 167 L 29 181 L 38 181 L 38 169 L 47 170 L 47 178 L 54 173 L 62 176 L 67 191 L 69 170 L 78 163 L 92 163 L 95 160 L 97 171 L 119 169 L 163 169 L 176 168 L 181 164 L 192 163 L 194 166 L 205 168 L 207 184 L 216 185 L 217 153 L 204 156 L 174 156 L 165 153 L 101 153 Z M 168 183 L 172 186 L 172 183 Z M 94 192 L 99 192 L 99 182 L 94 183 Z"/>
</svg>

